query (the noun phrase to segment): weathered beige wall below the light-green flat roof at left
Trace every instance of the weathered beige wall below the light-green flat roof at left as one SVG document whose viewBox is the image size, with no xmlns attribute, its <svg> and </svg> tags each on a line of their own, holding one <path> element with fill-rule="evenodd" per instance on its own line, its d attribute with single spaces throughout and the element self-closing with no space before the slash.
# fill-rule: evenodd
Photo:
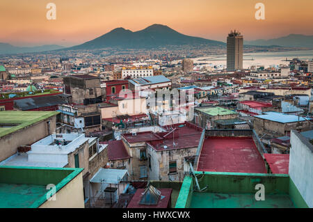
<svg viewBox="0 0 313 222">
<path fill-rule="evenodd" d="M 7 159 L 17 152 L 21 145 L 31 145 L 41 138 L 48 136 L 47 121 L 50 121 L 50 134 L 56 130 L 56 116 L 37 122 L 29 127 L 17 130 L 0 138 L 0 161 Z"/>
</svg>

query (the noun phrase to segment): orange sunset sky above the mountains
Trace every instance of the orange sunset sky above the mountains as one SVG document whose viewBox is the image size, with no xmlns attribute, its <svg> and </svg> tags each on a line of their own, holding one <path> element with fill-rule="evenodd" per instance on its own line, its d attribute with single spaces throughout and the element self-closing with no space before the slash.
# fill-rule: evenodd
<svg viewBox="0 0 313 222">
<path fill-rule="evenodd" d="M 49 2 L 56 3 L 56 20 L 46 18 Z M 265 20 L 255 19 L 259 2 Z M 313 35 L 312 8 L 312 0 L 1 0 L 0 42 L 70 46 L 118 27 L 138 31 L 151 24 L 224 42 L 230 29 L 245 40 Z"/>
</svg>

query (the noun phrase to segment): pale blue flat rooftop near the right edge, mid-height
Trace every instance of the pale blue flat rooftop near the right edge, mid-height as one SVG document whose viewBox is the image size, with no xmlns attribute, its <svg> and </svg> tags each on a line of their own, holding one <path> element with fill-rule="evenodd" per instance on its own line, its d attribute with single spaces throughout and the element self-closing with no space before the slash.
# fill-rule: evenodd
<svg viewBox="0 0 313 222">
<path fill-rule="evenodd" d="M 263 115 L 257 115 L 255 118 L 261 118 L 264 120 L 270 120 L 273 122 L 287 123 L 287 122 L 301 122 L 311 120 L 310 118 L 303 118 L 295 115 L 288 115 L 285 113 L 266 112 Z"/>
</svg>

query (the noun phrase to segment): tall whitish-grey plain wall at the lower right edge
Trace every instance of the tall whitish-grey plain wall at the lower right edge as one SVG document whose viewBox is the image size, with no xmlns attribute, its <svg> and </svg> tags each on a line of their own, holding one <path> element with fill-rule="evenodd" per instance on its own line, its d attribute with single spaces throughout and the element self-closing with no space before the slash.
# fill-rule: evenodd
<svg viewBox="0 0 313 222">
<path fill-rule="evenodd" d="M 313 145 L 306 138 L 291 131 L 289 177 L 296 185 L 308 207 L 313 207 Z"/>
</svg>

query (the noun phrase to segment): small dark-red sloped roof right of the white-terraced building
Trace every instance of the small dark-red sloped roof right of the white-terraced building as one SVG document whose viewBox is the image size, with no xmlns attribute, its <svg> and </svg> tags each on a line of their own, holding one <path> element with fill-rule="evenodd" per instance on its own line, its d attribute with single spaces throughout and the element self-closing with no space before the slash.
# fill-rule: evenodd
<svg viewBox="0 0 313 222">
<path fill-rule="evenodd" d="M 125 148 L 124 143 L 121 140 L 120 141 L 106 141 L 106 142 L 99 142 L 99 143 L 108 144 L 109 161 L 131 158 Z"/>
</svg>

